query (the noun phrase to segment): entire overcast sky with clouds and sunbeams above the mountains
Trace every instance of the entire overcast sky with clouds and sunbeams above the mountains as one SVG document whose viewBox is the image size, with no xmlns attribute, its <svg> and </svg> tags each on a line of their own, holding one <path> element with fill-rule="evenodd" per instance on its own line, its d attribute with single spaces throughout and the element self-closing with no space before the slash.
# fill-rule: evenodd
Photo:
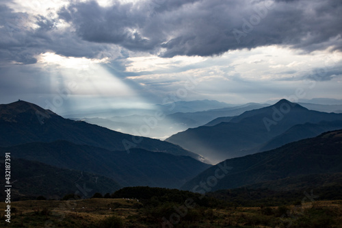
<svg viewBox="0 0 342 228">
<path fill-rule="evenodd" d="M 0 103 L 342 99 L 341 0 L 0 4 Z"/>
</svg>

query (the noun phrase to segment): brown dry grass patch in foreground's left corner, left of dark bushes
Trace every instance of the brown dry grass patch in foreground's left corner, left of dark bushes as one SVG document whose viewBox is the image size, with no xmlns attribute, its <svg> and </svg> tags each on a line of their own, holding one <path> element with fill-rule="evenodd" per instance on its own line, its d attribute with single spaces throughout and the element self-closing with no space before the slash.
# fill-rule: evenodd
<svg viewBox="0 0 342 228">
<path fill-rule="evenodd" d="M 126 199 L 12 202 L 11 224 L 3 219 L 0 227 L 98 227 L 101 220 L 113 214 L 122 218 L 137 214 L 133 208 L 137 204 Z M 1 202 L 0 207 L 5 208 L 5 203 Z M 0 215 L 5 218 L 3 210 Z"/>
</svg>

